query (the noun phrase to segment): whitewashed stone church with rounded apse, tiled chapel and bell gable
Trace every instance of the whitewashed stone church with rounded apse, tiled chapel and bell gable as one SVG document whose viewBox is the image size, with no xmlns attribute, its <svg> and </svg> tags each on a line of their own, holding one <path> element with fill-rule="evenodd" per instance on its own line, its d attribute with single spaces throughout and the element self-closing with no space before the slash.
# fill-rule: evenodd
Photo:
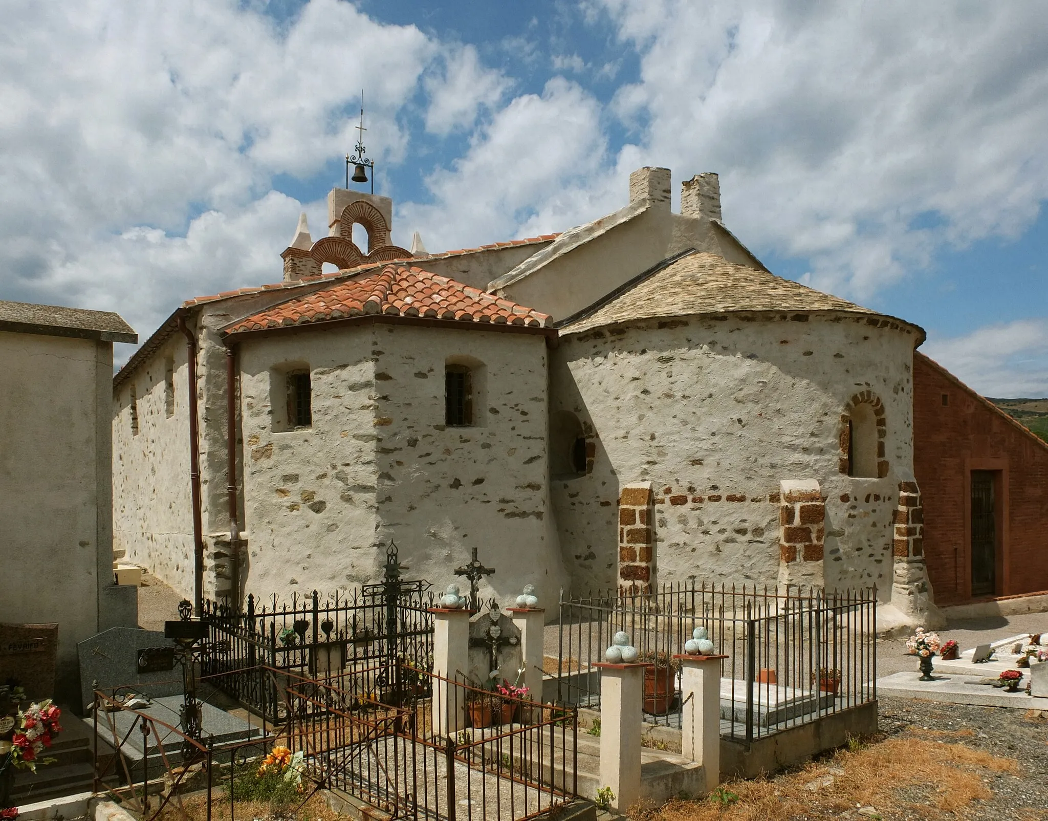
<svg viewBox="0 0 1048 821">
<path fill-rule="evenodd" d="M 372 580 L 393 539 L 440 584 L 477 544 L 503 598 L 876 584 L 923 618 L 923 331 L 771 275 L 716 174 L 670 200 L 639 169 L 591 223 L 413 257 L 333 191 L 283 282 L 185 302 L 116 375 L 117 545 L 199 596 Z"/>
</svg>

